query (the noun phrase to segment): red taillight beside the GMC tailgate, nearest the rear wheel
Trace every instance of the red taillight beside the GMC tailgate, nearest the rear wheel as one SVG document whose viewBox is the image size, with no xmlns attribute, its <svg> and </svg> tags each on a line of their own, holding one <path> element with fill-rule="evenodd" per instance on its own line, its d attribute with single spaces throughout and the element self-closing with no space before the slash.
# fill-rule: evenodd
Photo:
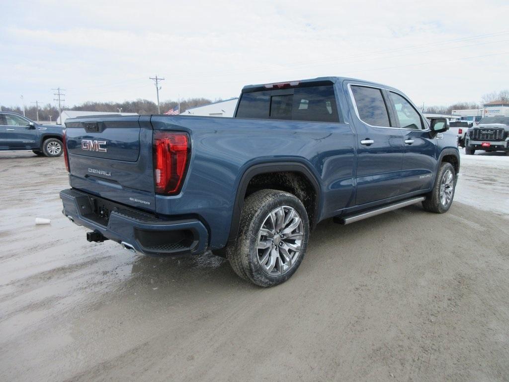
<svg viewBox="0 0 509 382">
<path fill-rule="evenodd" d="M 187 167 L 188 135 L 185 132 L 154 131 L 153 150 L 156 193 L 179 193 Z"/>
</svg>

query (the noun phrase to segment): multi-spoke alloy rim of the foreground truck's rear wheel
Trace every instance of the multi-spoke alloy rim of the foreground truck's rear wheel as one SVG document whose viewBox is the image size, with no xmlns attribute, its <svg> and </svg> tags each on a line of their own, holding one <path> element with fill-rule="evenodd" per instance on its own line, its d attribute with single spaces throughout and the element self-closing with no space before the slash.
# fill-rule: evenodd
<svg viewBox="0 0 509 382">
<path fill-rule="evenodd" d="M 258 263 L 270 276 L 287 272 L 296 263 L 302 249 L 304 225 L 290 206 L 272 210 L 258 232 Z"/>
</svg>

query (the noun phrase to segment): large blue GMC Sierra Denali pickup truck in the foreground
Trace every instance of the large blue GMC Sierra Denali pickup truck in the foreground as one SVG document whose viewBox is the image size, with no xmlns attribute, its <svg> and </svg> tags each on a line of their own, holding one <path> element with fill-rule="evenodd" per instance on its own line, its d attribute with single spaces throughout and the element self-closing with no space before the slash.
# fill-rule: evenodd
<svg viewBox="0 0 509 382">
<path fill-rule="evenodd" d="M 445 119 L 397 89 L 321 77 L 242 89 L 234 118 L 66 121 L 63 213 L 89 241 L 229 259 L 260 286 L 290 278 L 324 219 L 422 202 L 446 212 L 460 156 Z M 418 224 L 418 222 L 416 222 Z"/>
</svg>

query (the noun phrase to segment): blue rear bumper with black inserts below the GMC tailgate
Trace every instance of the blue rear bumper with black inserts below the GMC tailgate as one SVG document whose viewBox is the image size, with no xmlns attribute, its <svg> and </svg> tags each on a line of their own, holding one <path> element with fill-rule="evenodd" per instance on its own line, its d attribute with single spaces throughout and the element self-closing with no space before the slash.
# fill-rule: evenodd
<svg viewBox="0 0 509 382">
<path fill-rule="evenodd" d="M 64 205 L 62 212 L 75 224 L 122 243 L 131 251 L 172 256 L 199 254 L 208 248 L 207 228 L 197 219 L 158 219 L 72 188 L 62 190 L 60 198 Z M 105 216 L 99 215 L 100 209 L 107 211 Z"/>
</svg>

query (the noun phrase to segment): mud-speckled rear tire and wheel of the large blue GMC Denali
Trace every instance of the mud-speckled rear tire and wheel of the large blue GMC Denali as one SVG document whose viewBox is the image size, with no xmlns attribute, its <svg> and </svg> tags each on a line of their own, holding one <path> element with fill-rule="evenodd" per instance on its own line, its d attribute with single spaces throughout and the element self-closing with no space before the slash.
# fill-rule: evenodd
<svg viewBox="0 0 509 382">
<path fill-rule="evenodd" d="M 290 193 L 264 189 L 244 201 L 237 242 L 227 257 L 241 278 L 271 287 L 292 277 L 304 258 L 308 238 L 302 202 Z"/>
</svg>

